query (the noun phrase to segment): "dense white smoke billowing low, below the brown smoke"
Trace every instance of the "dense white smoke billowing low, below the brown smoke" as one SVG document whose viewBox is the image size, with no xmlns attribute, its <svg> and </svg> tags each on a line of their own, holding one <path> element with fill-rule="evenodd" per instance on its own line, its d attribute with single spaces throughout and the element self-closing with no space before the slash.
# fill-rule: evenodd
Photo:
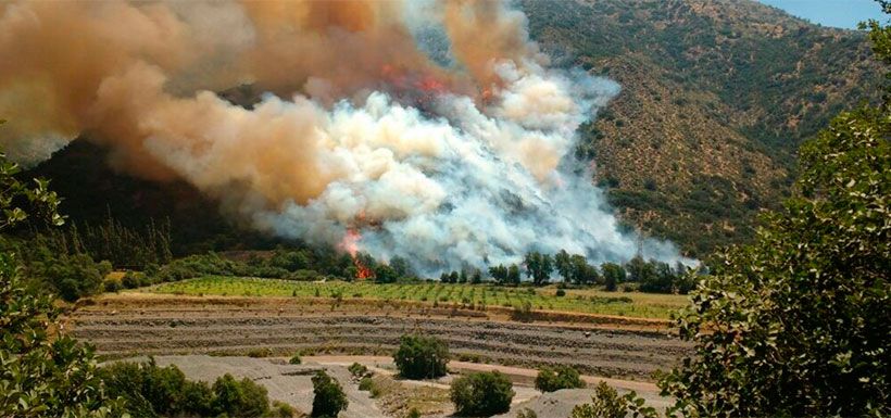
<svg viewBox="0 0 891 418">
<path fill-rule="evenodd" d="M 406 257 L 426 274 L 519 263 L 531 250 L 627 261 L 640 250 L 640 237 L 620 231 L 592 173 L 570 154 L 578 126 L 619 86 L 530 67 L 524 73 L 500 63 L 507 84 L 482 109 L 451 94 L 437 98 L 436 116 L 382 92 L 362 106 L 339 103 L 323 127 L 326 160 L 352 173 L 306 204 L 289 202 L 281 212 L 258 213 L 255 221 L 328 244 L 357 228 L 361 249 L 385 261 Z M 645 240 L 642 251 L 680 259 L 667 242 Z"/>
</svg>

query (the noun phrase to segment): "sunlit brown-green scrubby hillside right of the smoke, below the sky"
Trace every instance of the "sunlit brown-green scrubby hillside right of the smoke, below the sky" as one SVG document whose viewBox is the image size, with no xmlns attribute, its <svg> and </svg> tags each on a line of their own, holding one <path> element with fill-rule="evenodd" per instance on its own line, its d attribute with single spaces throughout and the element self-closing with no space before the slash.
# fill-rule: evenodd
<svg viewBox="0 0 891 418">
<path fill-rule="evenodd" d="M 862 33 L 750 0 L 520 2 L 556 62 L 623 92 L 583 136 L 624 218 L 694 256 L 752 236 L 794 152 L 880 76 Z"/>
</svg>

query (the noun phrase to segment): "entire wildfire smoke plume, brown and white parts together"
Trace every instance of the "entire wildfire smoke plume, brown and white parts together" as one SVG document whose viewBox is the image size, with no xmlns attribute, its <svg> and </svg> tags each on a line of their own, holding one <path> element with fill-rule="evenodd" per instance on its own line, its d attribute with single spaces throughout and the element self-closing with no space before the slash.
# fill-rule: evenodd
<svg viewBox="0 0 891 418">
<path fill-rule="evenodd" d="M 20 161 L 83 132 L 260 230 L 424 273 L 639 249 L 572 157 L 618 86 L 549 68 L 503 3 L 2 3 L 0 56 L 0 144 Z M 242 84 L 266 93 L 214 92 Z"/>
</svg>

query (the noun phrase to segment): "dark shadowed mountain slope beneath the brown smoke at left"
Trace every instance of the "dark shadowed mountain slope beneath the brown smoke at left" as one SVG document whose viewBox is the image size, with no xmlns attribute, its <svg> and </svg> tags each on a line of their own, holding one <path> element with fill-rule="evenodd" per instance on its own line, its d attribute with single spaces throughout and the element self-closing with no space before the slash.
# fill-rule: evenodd
<svg viewBox="0 0 891 418">
<path fill-rule="evenodd" d="M 142 180 L 113 170 L 106 161 L 106 149 L 78 138 L 22 177 L 50 179 L 50 188 L 63 198 L 60 212 L 78 226 L 111 217 L 142 231 L 150 221 L 170 221 L 174 255 L 268 249 L 277 242 L 233 223 L 216 202 L 186 182 Z"/>
</svg>

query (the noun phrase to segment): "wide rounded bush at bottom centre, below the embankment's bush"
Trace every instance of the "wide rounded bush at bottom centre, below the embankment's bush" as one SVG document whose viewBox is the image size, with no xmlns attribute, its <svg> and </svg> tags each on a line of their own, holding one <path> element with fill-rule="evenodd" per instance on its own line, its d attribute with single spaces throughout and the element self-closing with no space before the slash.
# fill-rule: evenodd
<svg viewBox="0 0 891 418">
<path fill-rule="evenodd" d="M 455 411 L 473 417 L 506 413 L 514 398 L 511 380 L 498 371 L 476 372 L 455 379 L 449 392 Z"/>
</svg>

